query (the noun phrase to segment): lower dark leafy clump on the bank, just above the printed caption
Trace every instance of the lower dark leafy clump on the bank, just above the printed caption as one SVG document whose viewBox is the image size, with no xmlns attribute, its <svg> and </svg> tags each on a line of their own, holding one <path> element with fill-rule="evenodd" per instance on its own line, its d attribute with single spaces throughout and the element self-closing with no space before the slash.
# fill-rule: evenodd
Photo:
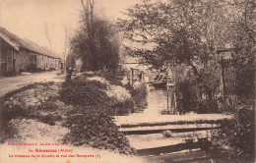
<svg viewBox="0 0 256 163">
<path fill-rule="evenodd" d="M 75 107 L 70 110 L 66 126 L 71 133 L 64 141 L 74 145 L 89 144 L 100 149 L 109 149 L 122 154 L 133 153 L 129 142 L 113 124 L 109 108 L 93 106 Z"/>
</svg>

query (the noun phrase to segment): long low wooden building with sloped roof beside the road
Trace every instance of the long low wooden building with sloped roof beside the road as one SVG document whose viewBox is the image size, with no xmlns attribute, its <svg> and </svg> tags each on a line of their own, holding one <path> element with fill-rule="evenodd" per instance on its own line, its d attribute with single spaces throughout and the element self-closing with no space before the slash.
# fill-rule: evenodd
<svg viewBox="0 0 256 163">
<path fill-rule="evenodd" d="M 0 76 L 60 69 L 60 57 L 46 47 L 0 27 Z"/>
</svg>

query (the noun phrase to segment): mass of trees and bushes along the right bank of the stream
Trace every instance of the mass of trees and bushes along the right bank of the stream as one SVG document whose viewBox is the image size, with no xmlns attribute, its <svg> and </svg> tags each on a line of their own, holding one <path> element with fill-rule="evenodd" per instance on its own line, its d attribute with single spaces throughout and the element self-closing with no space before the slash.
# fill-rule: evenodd
<svg viewBox="0 0 256 163">
<path fill-rule="evenodd" d="M 255 112 L 255 10 L 254 0 L 146 0 L 119 20 L 126 39 L 154 46 L 130 49 L 133 56 L 157 69 L 183 67 L 181 78 L 174 71 L 181 113 L 237 115 L 228 122 L 231 132 L 223 126 L 217 139 L 240 162 L 255 156 L 249 145 L 255 143 L 255 119 L 246 121 L 250 115 L 242 113 Z"/>
</svg>

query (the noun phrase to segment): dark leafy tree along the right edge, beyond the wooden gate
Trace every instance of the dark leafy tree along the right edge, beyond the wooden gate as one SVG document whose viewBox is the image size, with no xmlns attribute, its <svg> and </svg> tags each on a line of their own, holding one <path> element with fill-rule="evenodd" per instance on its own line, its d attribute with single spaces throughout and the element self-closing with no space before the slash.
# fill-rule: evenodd
<svg viewBox="0 0 256 163">
<path fill-rule="evenodd" d="M 256 2 L 234 0 L 235 16 L 231 26 L 232 45 L 238 50 L 234 56 L 237 72 L 236 94 L 243 101 L 254 104 L 256 54 Z"/>
</svg>

